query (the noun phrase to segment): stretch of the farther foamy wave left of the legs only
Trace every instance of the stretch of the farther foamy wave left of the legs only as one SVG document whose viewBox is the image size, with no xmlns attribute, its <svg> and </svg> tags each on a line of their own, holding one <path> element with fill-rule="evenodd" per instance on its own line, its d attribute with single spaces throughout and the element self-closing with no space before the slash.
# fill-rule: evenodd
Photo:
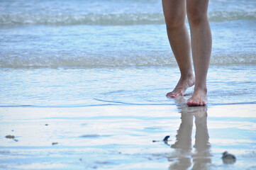
<svg viewBox="0 0 256 170">
<path fill-rule="evenodd" d="M 40 14 L 1 13 L 0 25 L 138 25 L 162 24 L 162 13 L 87 13 L 87 14 Z"/>
</svg>

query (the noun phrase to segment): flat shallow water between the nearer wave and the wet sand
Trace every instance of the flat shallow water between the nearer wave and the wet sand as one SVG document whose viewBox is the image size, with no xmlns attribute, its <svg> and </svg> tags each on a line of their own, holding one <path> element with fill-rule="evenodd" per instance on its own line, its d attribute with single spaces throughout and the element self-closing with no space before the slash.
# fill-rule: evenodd
<svg viewBox="0 0 256 170">
<path fill-rule="evenodd" d="M 177 67 L 114 69 L 1 69 L 0 106 L 84 107 L 174 105 L 166 98 L 179 79 Z M 209 105 L 256 102 L 255 66 L 211 66 Z M 187 90 L 189 98 L 193 88 Z"/>
</svg>

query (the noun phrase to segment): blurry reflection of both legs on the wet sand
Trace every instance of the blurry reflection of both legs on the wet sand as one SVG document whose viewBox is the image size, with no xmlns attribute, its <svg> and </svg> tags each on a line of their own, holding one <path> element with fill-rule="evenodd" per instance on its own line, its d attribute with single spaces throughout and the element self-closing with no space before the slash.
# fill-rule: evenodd
<svg viewBox="0 0 256 170">
<path fill-rule="evenodd" d="M 207 129 L 207 108 L 179 106 L 179 111 L 182 113 L 182 123 L 179 126 L 179 130 L 177 130 L 176 142 L 171 145 L 175 152 L 169 157 L 169 161 L 173 162 L 169 169 L 207 169 L 207 164 L 211 163 Z M 196 139 L 194 150 L 192 151 L 191 135 L 194 117 Z"/>
</svg>

